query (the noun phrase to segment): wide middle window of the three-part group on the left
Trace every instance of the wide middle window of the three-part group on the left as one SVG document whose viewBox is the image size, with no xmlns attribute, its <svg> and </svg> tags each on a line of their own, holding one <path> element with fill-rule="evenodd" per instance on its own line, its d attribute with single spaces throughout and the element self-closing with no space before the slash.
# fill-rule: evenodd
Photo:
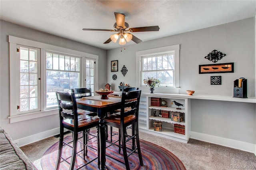
<svg viewBox="0 0 256 170">
<path fill-rule="evenodd" d="M 56 91 L 81 87 L 81 57 L 46 51 L 46 108 L 57 107 Z"/>
</svg>

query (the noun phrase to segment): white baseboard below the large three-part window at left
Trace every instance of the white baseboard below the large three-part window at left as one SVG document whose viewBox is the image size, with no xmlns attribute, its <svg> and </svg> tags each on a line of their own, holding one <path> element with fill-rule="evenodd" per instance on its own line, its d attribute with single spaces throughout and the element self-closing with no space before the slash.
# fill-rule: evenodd
<svg viewBox="0 0 256 170">
<path fill-rule="evenodd" d="M 25 146 L 27 144 L 37 142 L 39 140 L 43 140 L 45 138 L 49 138 L 49 137 L 54 136 L 56 134 L 60 134 L 60 128 L 54 128 L 54 129 L 51 129 L 51 130 L 40 132 L 38 134 L 33 134 L 31 136 L 26 136 L 25 138 L 20 138 L 18 140 L 14 140 L 14 142 L 18 143 L 18 146 L 21 147 L 21 146 Z"/>
</svg>

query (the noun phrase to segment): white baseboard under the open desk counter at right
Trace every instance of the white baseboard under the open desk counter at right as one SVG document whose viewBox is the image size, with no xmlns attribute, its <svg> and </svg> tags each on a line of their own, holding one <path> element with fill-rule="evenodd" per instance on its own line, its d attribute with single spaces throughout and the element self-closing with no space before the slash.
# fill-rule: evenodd
<svg viewBox="0 0 256 170">
<path fill-rule="evenodd" d="M 192 131 L 190 132 L 190 138 L 202 140 L 204 142 L 210 142 L 210 143 L 218 144 L 222 146 L 227 146 L 229 148 L 244 150 L 246 152 L 251 152 L 256 155 L 256 144 L 242 142 L 234 139 L 222 138 L 219 136 L 212 136 L 204 133 L 192 132 Z"/>
</svg>

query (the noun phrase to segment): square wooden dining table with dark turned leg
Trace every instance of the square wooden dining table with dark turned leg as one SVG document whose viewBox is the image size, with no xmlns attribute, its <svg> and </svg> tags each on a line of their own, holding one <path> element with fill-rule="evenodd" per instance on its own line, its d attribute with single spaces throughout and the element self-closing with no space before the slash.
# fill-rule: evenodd
<svg viewBox="0 0 256 170">
<path fill-rule="evenodd" d="M 100 136 L 100 170 L 105 170 L 106 163 L 106 130 L 104 118 L 108 112 L 120 109 L 121 97 L 108 96 L 109 99 L 101 99 L 101 96 L 89 96 L 77 99 L 78 109 L 92 111 L 98 114 L 99 121 L 99 136 Z"/>
</svg>

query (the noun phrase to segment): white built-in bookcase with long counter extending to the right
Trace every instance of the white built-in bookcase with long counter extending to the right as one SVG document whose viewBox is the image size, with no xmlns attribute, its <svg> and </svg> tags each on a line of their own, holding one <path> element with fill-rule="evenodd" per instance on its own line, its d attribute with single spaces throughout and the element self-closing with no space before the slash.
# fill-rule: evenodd
<svg viewBox="0 0 256 170">
<path fill-rule="evenodd" d="M 121 95 L 121 92 L 114 92 L 113 94 Z M 168 107 L 151 106 L 151 97 L 159 97 L 168 101 Z M 202 100 L 215 100 L 215 101 L 230 101 L 230 102 L 244 102 L 244 103 L 256 103 L 255 97 L 237 98 L 232 96 L 219 96 L 219 95 L 187 95 L 187 94 L 167 94 L 167 93 L 141 93 L 140 108 L 139 108 L 139 128 L 143 132 L 170 138 L 180 142 L 187 143 L 190 138 L 190 101 L 191 99 Z M 176 109 L 176 106 L 171 104 L 173 100 L 184 104 L 184 107 Z M 184 113 L 184 121 L 175 122 L 171 119 L 163 117 L 154 117 L 152 110 L 166 110 L 174 112 Z M 154 131 L 154 122 L 162 122 L 162 132 Z M 185 135 L 174 132 L 174 124 L 185 126 Z"/>
</svg>

